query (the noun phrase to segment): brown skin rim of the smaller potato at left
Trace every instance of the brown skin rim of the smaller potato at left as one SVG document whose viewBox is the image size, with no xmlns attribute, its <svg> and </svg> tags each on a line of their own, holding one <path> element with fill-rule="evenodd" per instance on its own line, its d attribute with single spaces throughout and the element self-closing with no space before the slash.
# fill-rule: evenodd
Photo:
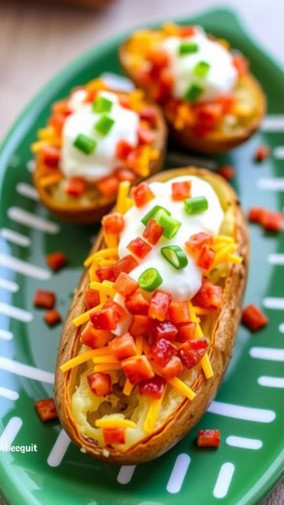
<svg viewBox="0 0 284 505">
<path fill-rule="evenodd" d="M 120 92 L 120 94 L 123 94 Z M 126 94 L 126 93 L 125 93 Z M 157 138 L 153 143 L 153 148 L 157 149 L 160 153 L 159 157 L 156 160 L 151 161 L 150 163 L 150 176 L 159 172 L 164 165 L 165 153 L 166 153 L 166 144 L 167 144 L 167 125 L 165 123 L 163 113 L 159 106 L 151 102 L 150 100 L 146 100 L 148 105 L 151 107 L 155 107 L 158 111 L 158 124 L 157 124 Z M 114 197 L 105 197 L 100 196 L 94 201 L 94 203 L 86 206 L 80 205 L 80 202 L 76 202 L 74 198 L 74 204 L 61 204 L 51 197 L 49 192 L 42 188 L 39 184 L 40 180 L 40 166 L 41 162 L 39 157 L 36 158 L 36 166 L 35 171 L 33 173 L 33 183 L 38 191 L 39 198 L 41 203 L 49 209 L 49 211 L 60 219 L 64 219 L 66 221 L 70 221 L 72 223 L 96 223 L 101 221 L 102 217 L 107 214 L 111 208 L 113 207 L 116 196 Z M 135 184 L 142 180 L 141 177 L 137 177 L 135 180 Z"/>
</svg>

